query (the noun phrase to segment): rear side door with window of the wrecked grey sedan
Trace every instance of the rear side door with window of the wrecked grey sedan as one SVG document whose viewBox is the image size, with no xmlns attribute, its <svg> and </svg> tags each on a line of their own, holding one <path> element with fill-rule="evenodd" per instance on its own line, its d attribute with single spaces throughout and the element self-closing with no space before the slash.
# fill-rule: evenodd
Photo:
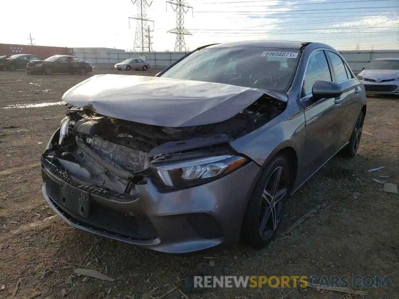
<svg viewBox="0 0 399 299">
<path fill-rule="evenodd" d="M 340 84 L 342 90 L 342 102 L 337 103 L 337 119 L 340 122 L 341 134 L 338 140 L 338 149 L 348 141 L 361 109 L 361 83 L 355 79 L 348 65 L 342 57 L 333 51 L 326 51 L 332 67 L 334 80 Z"/>
</svg>

